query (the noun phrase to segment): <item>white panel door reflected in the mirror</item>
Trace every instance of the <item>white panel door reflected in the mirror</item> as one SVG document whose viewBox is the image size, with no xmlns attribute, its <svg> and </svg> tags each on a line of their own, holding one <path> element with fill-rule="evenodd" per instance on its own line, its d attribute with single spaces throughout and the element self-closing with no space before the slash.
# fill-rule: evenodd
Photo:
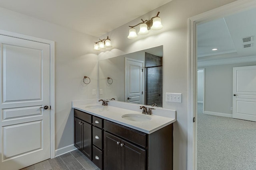
<svg viewBox="0 0 256 170">
<path fill-rule="evenodd" d="M 143 104 L 143 61 L 126 58 L 126 102 Z"/>
</svg>

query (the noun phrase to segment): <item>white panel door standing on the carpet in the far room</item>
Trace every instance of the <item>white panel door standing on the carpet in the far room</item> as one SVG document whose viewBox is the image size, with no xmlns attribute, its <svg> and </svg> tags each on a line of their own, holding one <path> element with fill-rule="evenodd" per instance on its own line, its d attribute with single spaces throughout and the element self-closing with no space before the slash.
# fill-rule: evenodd
<svg viewBox="0 0 256 170">
<path fill-rule="evenodd" d="M 256 121 L 256 66 L 233 68 L 233 118 Z"/>
</svg>

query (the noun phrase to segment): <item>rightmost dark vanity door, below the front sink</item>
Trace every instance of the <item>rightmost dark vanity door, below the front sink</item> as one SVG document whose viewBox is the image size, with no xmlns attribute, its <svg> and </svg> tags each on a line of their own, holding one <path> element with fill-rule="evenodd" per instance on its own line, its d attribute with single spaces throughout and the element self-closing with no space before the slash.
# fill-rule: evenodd
<svg viewBox="0 0 256 170">
<path fill-rule="evenodd" d="M 146 151 L 126 141 L 120 144 L 122 148 L 122 170 L 145 170 Z"/>
</svg>

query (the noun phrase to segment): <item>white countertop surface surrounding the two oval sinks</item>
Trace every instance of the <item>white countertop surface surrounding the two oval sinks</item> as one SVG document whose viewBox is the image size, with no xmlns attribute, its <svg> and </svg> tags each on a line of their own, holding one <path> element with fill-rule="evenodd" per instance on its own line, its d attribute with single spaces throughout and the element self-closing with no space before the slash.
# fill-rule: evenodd
<svg viewBox="0 0 256 170">
<path fill-rule="evenodd" d="M 120 107 L 114 106 L 102 106 L 103 108 L 90 108 L 88 106 L 101 106 L 100 104 L 87 104 L 87 105 L 79 105 L 79 106 L 72 106 L 74 109 L 78 109 L 80 111 L 84 111 L 86 113 L 90 113 L 91 115 L 95 115 L 101 117 L 103 119 L 112 121 L 114 123 L 118 123 L 120 125 L 124 125 L 126 127 L 130 127 L 132 129 L 136 129 L 138 131 L 150 134 L 166 125 L 170 125 L 171 123 L 175 122 L 175 118 L 164 117 L 159 115 L 147 115 L 151 118 L 149 121 L 130 121 L 122 118 L 122 115 L 135 113 L 142 115 L 141 112 L 133 111 L 129 109 L 123 109 Z M 86 107 L 87 106 L 87 107 Z"/>
</svg>

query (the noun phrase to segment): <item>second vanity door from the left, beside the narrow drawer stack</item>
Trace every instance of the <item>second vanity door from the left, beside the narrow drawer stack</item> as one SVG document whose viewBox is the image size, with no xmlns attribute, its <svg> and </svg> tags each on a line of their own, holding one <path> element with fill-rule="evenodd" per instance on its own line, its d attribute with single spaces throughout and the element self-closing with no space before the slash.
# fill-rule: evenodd
<svg viewBox="0 0 256 170">
<path fill-rule="evenodd" d="M 92 125 L 82 121 L 82 152 L 92 160 Z"/>
</svg>

